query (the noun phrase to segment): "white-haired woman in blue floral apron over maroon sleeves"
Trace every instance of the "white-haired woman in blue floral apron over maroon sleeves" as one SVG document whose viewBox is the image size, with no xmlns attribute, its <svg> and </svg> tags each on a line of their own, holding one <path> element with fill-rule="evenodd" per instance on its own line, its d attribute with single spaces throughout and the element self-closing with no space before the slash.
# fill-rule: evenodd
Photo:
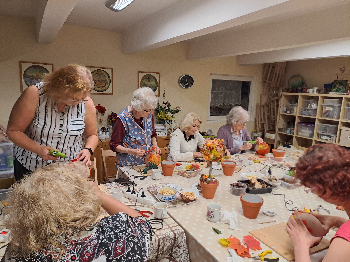
<svg viewBox="0 0 350 262">
<path fill-rule="evenodd" d="M 134 91 L 131 106 L 118 115 L 109 143 L 117 152 L 118 166 L 141 165 L 148 150 L 160 152 L 153 115 L 157 103 L 153 90 L 142 87 Z"/>
</svg>

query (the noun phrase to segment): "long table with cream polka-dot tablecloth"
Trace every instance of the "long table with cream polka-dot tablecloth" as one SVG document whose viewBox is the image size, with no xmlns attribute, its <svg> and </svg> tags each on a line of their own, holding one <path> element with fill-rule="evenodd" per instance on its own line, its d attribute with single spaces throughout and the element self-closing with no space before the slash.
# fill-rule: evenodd
<svg viewBox="0 0 350 262">
<path fill-rule="evenodd" d="M 240 156 L 241 158 L 245 156 Z M 248 156 L 247 156 L 248 157 Z M 315 194 L 308 194 L 304 191 L 304 188 L 299 187 L 296 189 L 286 189 L 284 187 L 277 187 L 273 189 L 272 193 L 274 194 L 284 194 L 283 195 L 273 195 L 270 193 L 260 194 L 264 199 L 264 204 L 260 210 L 260 214 L 257 219 L 248 219 L 243 216 L 242 206 L 238 196 L 234 196 L 230 193 L 230 184 L 241 179 L 241 174 L 243 172 L 252 172 L 254 170 L 259 172 L 264 170 L 266 162 L 261 163 L 248 163 L 246 161 L 241 161 L 242 159 L 235 159 L 240 161 L 237 171 L 234 172 L 233 176 L 228 177 L 223 174 L 218 175 L 217 179 L 220 181 L 219 187 L 216 191 L 214 199 L 205 199 L 201 195 L 198 199 L 188 205 L 177 205 L 168 209 L 168 214 L 184 229 L 187 237 L 187 245 L 190 253 L 191 261 L 194 262 L 205 262 L 205 261 L 225 261 L 229 256 L 228 250 L 225 247 L 222 247 L 218 239 L 228 238 L 231 235 L 242 240 L 243 236 L 249 235 L 249 231 L 271 226 L 274 224 L 279 224 L 286 222 L 291 215 L 291 211 L 288 211 L 285 206 L 285 200 L 292 200 L 293 204 L 289 206 L 290 209 L 297 207 L 303 209 L 304 207 L 309 209 L 316 209 L 318 205 L 322 205 L 324 208 L 331 211 L 331 215 L 347 217 L 344 211 L 337 210 L 334 205 L 331 205 Z M 250 161 L 250 160 L 249 160 Z M 246 165 L 247 164 L 247 165 Z M 273 173 L 277 174 L 286 173 L 287 168 L 273 167 Z M 134 176 L 140 175 L 136 170 L 131 169 L 130 167 L 120 168 L 119 175 L 133 179 Z M 127 172 L 125 172 L 127 171 Z M 193 178 L 185 178 L 177 175 L 176 172 L 172 176 L 162 176 L 161 180 L 152 180 L 151 177 L 146 178 L 145 180 L 134 179 L 140 186 L 146 188 L 148 186 L 164 185 L 164 184 L 176 184 L 182 189 L 191 188 L 193 184 L 199 182 L 199 176 Z M 222 222 L 212 223 L 206 219 L 207 204 L 210 202 L 216 202 L 222 205 L 223 210 L 232 211 L 234 208 L 238 213 L 238 224 L 240 231 L 232 230 L 229 228 L 228 224 L 223 224 Z M 275 217 L 267 217 L 262 214 L 263 210 L 273 210 L 277 212 Z M 276 220 L 273 223 L 259 224 L 262 222 L 267 222 L 271 220 Z M 219 229 L 222 234 L 217 235 L 212 227 Z M 334 231 L 330 231 L 326 239 L 330 240 L 334 236 Z M 262 250 L 270 249 L 264 243 L 261 242 Z M 252 256 L 257 256 L 261 251 L 250 252 Z M 287 261 L 278 254 L 275 256 L 280 257 L 280 261 Z M 311 256 L 312 261 L 320 261 L 320 258 L 324 257 L 325 251 L 313 254 Z M 244 261 L 250 261 L 248 258 L 245 258 Z M 253 260 L 251 260 L 253 261 Z"/>
</svg>

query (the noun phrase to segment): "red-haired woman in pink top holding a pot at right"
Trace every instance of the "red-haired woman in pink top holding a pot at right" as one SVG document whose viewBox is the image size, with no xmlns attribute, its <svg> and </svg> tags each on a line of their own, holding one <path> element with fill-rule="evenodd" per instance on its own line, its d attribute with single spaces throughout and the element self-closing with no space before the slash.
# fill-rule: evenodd
<svg viewBox="0 0 350 262">
<path fill-rule="evenodd" d="M 319 144 L 308 148 L 296 164 L 296 178 L 324 201 L 343 206 L 350 217 L 350 153 L 334 144 Z M 339 228 L 331 240 L 323 262 L 350 261 L 350 220 L 337 216 L 312 214 L 324 225 Z M 291 216 L 287 232 L 294 245 L 295 262 L 309 262 L 309 248 L 321 238 L 312 236 L 305 225 Z"/>
</svg>

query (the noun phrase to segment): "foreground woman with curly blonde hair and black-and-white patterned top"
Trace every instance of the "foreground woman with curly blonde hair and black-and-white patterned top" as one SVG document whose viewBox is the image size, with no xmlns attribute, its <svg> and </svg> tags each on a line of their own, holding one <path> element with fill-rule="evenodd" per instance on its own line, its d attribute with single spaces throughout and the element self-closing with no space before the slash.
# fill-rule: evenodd
<svg viewBox="0 0 350 262">
<path fill-rule="evenodd" d="M 151 225 L 87 181 L 79 162 L 39 168 L 14 186 L 5 220 L 15 261 L 147 261 Z M 110 215 L 99 220 L 101 207 Z M 8 260 L 7 260 L 8 261 Z"/>
</svg>

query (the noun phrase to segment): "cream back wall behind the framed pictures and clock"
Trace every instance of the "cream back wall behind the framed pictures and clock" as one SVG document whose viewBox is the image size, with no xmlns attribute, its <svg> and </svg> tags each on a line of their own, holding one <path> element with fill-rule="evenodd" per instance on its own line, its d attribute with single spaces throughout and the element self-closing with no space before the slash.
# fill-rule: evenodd
<svg viewBox="0 0 350 262">
<path fill-rule="evenodd" d="M 52 63 L 59 68 L 68 63 L 113 68 L 113 96 L 92 95 L 94 103 L 110 111 L 120 112 L 129 103 L 137 88 L 138 71 L 160 73 L 161 94 L 182 111 L 180 120 L 189 111 L 197 112 L 203 120 L 201 130 L 217 129 L 224 123 L 207 123 L 210 95 L 210 74 L 254 76 L 261 88 L 262 65 L 239 66 L 236 57 L 190 61 L 186 59 L 187 45 L 178 43 L 148 52 L 122 53 L 121 35 L 65 25 L 50 45 L 38 44 L 34 21 L 28 18 L 0 16 L 0 124 L 7 125 L 13 104 L 20 96 L 19 61 Z M 195 84 L 189 90 L 178 85 L 183 74 L 193 76 Z M 254 91 L 254 90 L 252 90 Z M 20 116 L 18 116 L 20 117 Z M 248 128 L 253 128 L 253 122 Z"/>
</svg>

